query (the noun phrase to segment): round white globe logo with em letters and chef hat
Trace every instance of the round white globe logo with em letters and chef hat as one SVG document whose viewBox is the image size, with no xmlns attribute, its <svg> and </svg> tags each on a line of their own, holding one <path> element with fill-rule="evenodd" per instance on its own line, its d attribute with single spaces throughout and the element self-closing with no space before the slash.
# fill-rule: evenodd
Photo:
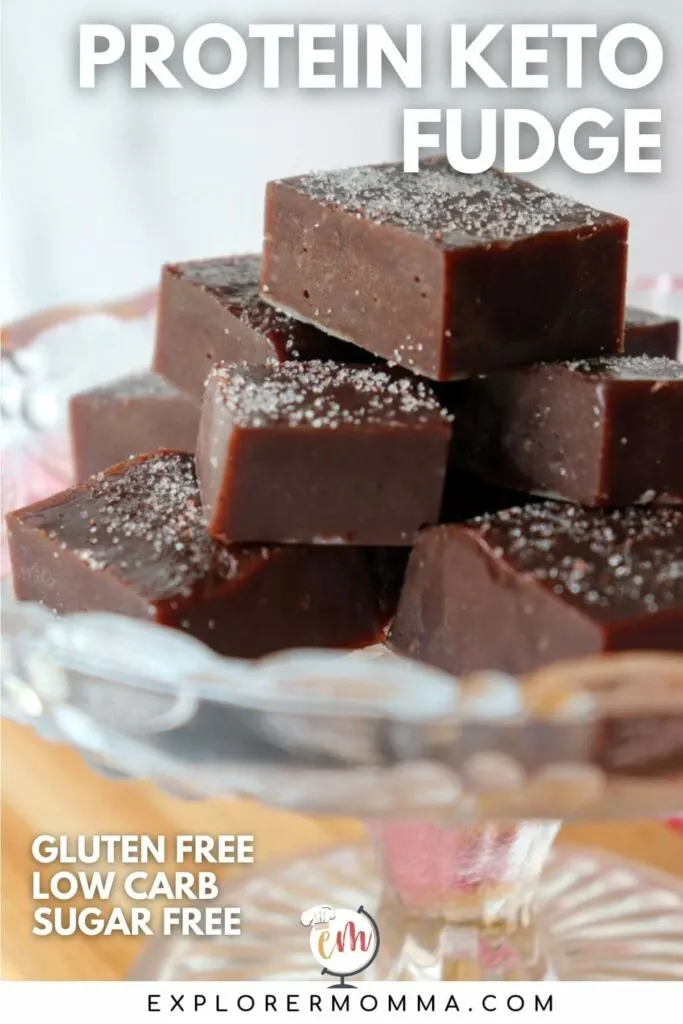
<svg viewBox="0 0 683 1024">
<path fill-rule="evenodd" d="M 362 974 L 380 948 L 375 919 L 364 906 L 357 910 L 323 904 L 301 914 L 301 924 L 310 929 L 310 951 L 322 973 L 338 978 L 331 988 L 353 988 L 347 978 Z"/>
</svg>

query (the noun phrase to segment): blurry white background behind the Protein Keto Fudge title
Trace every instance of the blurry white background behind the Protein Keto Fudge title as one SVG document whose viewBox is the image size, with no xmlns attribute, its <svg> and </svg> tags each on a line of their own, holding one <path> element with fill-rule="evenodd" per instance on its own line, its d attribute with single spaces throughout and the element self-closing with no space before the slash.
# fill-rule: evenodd
<svg viewBox="0 0 683 1024">
<path fill-rule="evenodd" d="M 683 270 L 682 0 L 4 0 L 2 319 L 47 306 L 126 296 L 169 259 L 254 250 L 268 178 L 401 156 L 404 106 L 661 106 L 661 177 L 559 166 L 541 183 L 632 219 L 632 274 Z M 639 20 L 666 47 L 659 80 L 624 93 L 593 72 L 581 92 L 452 93 L 451 22 Z M 422 94 L 265 91 L 256 69 L 232 89 L 132 91 L 126 70 L 78 87 L 82 22 L 158 22 L 182 43 L 207 22 L 421 22 L 429 40 Z M 555 65 L 559 70 L 561 63 Z M 543 69 L 540 69 L 543 70 Z M 559 76 L 558 76 L 559 77 Z"/>
</svg>

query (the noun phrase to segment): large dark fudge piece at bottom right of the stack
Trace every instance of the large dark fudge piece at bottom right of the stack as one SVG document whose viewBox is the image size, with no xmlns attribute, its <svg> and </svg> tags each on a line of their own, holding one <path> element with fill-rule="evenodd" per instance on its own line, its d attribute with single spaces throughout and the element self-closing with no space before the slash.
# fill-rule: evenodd
<svg viewBox="0 0 683 1024">
<path fill-rule="evenodd" d="M 454 674 L 681 651 L 683 512 L 542 502 L 427 529 L 390 642 Z"/>
</svg>

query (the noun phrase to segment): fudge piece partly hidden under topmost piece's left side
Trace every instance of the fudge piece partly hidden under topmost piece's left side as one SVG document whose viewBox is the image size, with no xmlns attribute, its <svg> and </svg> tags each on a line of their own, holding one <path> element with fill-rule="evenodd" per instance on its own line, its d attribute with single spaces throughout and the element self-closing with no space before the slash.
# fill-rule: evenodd
<svg viewBox="0 0 683 1024">
<path fill-rule="evenodd" d="M 162 270 L 154 369 L 197 399 L 214 362 L 370 361 L 361 349 L 300 324 L 259 297 L 260 256 Z"/>
</svg>

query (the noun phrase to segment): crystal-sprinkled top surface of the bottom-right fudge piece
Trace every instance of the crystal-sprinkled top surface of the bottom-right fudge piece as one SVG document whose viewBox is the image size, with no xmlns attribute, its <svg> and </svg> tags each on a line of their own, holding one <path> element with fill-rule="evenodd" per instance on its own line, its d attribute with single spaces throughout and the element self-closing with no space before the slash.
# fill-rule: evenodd
<svg viewBox="0 0 683 1024">
<path fill-rule="evenodd" d="M 596 511 L 548 501 L 479 516 L 464 528 L 495 558 L 591 617 L 683 608 L 678 509 Z"/>
</svg>

